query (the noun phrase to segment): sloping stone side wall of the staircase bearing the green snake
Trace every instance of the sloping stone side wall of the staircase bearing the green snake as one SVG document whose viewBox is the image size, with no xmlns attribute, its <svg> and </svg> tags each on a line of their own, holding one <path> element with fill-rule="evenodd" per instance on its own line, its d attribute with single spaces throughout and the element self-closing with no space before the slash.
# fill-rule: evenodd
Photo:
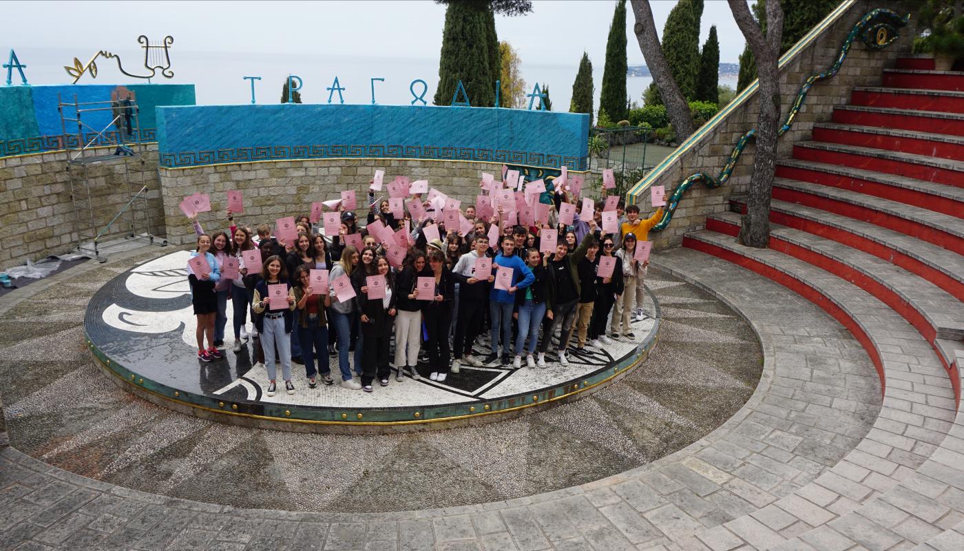
<svg viewBox="0 0 964 551">
<path fill-rule="evenodd" d="M 827 69 L 834 63 L 847 33 L 861 17 L 876 8 L 889 8 L 899 14 L 911 13 L 911 21 L 907 26 L 898 29 L 900 38 L 883 50 L 871 50 L 859 40 L 853 42 L 837 75 L 819 81 L 811 89 L 792 128 L 780 139 L 780 156 L 790 156 L 793 143 L 809 140 L 814 123 L 830 121 L 834 106 L 849 102 L 853 87 L 879 85 L 882 69 L 893 68 L 898 55 L 906 55 L 911 51 L 915 34 L 913 14 L 916 14 L 913 2 L 859 0 L 781 70 L 781 105 L 784 117 L 790 111 L 790 105 L 803 82 L 810 75 Z M 664 185 L 667 190 L 672 190 L 683 179 L 697 172 L 716 176 L 729 159 L 736 140 L 756 125 L 758 114 L 759 101 L 754 94 L 683 152 L 667 170 L 644 181 L 652 180 L 652 185 Z M 681 147 L 684 146 L 685 144 Z M 708 215 L 726 210 L 730 196 L 746 193 L 753 172 L 754 149 L 755 146 L 751 143 L 743 151 L 733 176 L 726 185 L 717 189 L 691 187 L 677 207 L 669 227 L 662 232 L 650 234 L 656 246 L 665 248 L 679 245 L 683 234 L 704 227 Z M 648 209 L 648 188 L 643 190 L 637 203 L 644 211 Z"/>
</svg>

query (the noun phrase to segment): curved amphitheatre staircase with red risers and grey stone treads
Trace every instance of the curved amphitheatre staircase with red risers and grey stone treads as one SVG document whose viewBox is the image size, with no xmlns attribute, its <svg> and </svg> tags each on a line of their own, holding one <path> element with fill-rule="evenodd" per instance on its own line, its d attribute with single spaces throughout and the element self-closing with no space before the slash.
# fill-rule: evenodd
<svg viewBox="0 0 964 551">
<path fill-rule="evenodd" d="M 883 404 L 815 480 L 695 536 L 714 551 L 964 548 L 964 71 L 898 60 L 814 124 L 776 177 L 768 249 L 736 243 L 739 197 L 683 246 L 835 317 L 870 356 Z M 858 411 L 846 396 L 827 405 L 842 421 Z"/>
</svg>

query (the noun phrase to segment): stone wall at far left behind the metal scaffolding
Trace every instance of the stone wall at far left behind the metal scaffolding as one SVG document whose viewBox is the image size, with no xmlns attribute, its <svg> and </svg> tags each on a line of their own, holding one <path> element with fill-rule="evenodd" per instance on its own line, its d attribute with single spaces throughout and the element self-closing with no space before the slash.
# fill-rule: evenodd
<svg viewBox="0 0 964 551">
<path fill-rule="evenodd" d="M 124 163 L 127 163 L 130 185 L 135 192 L 141 185 L 143 172 L 152 232 L 164 234 L 157 147 L 148 145 L 146 149 L 147 153 L 141 157 L 97 163 L 88 168 L 95 231 L 104 228 L 129 200 L 124 176 Z M 78 170 L 76 165 L 70 168 Z M 75 179 L 75 185 L 76 182 L 79 179 Z M 78 191 L 82 189 L 82 186 L 77 187 Z M 143 202 L 139 200 L 140 206 Z M 137 220 L 143 220 L 143 216 L 142 208 Z M 81 216 L 84 224 L 89 224 L 89 219 L 89 215 Z M 0 269 L 75 248 L 78 242 L 74 222 L 67 152 L 0 158 L 0 227 L 3 228 L 0 233 Z M 102 239 L 124 234 L 129 227 L 119 221 Z M 137 229 L 142 231 L 143 227 L 139 224 Z M 87 236 L 89 238 L 90 233 Z"/>
</svg>

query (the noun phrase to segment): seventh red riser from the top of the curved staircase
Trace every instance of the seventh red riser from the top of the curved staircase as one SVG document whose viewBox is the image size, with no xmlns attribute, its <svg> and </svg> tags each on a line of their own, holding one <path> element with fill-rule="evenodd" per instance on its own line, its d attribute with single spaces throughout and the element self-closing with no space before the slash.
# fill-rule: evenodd
<svg viewBox="0 0 964 551">
<path fill-rule="evenodd" d="M 871 171 L 849 169 L 858 174 L 839 174 L 848 169 L 840 169 L 839 167 L 826 165 L 824 163 L 807 164 L 809 166 L 802 166 L 803 163 L 794 163 L 793 161 L 784 163 L 778 161 L 775 176 L 777 178 L 809 181 L 820 185 L 836 187 L 837 189 L 846 189 L 889 201 L 896 201 L 904 205 L 928 208 L 935 212 L 942 212 L 956 218 L 964 218 L 964 203 L 956 201 L 951 197 L 930 192 L 930 190 L 926 189 L 926 182 L 921 182 L 923 185 L 915 186 L 915 180 L 906 182 L 891 177 L 892 180 L 888 181 L 886 175 L 879 175 L 878 177 L 877 173 Z M 826 167 L 826 170 L 821 170 L 823 167 Z M 870 174 L 864 175 L 859 173 Z M 940 187 L 934 186 L 933 184 L 929 185 L 932 187 Z M 958 193 L 957 195 L 959 196 L 960 194 Z"/>
</svg>

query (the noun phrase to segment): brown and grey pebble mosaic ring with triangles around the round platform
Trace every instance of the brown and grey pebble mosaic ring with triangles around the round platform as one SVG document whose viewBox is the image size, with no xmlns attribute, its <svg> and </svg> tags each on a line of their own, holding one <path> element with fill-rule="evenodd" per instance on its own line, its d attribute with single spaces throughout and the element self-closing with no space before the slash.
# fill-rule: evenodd
<svg viewBox="0 0 964 551">
<path fill-rule="evenodd" d="M 648 284 L 663 315 L 655 353 L 585 399 L 514 421 L 418 434 L 228 427 L 133 398 L 97 371 L 86 350 L 90 297 L 156 255 L 149 249 L 64 278 L 0 321 L 0 397 L 18 450 L 97 480 L 236 507 L 459 506 L 590 482 L 671 454 L 736 413 L 761 373 L 760 345 L 741 318 L 652 270 Z"/>
</svg>

